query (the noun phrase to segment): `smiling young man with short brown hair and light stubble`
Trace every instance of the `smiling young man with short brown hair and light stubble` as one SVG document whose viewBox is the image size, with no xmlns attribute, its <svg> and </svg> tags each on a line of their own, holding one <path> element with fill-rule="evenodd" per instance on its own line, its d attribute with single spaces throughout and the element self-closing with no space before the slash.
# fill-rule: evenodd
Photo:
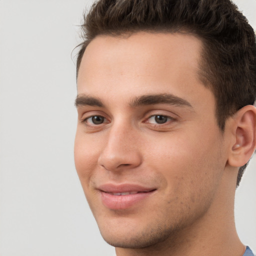
<svg viewBox="0 0 256 256">
<path fill-rule="evenodd" d="M 233 202 L 256 147 L 256 47 L 229 0 L 100 0 L 77 58 L 75 165 L 126 255 L 252 255 Z"/>
</svg>

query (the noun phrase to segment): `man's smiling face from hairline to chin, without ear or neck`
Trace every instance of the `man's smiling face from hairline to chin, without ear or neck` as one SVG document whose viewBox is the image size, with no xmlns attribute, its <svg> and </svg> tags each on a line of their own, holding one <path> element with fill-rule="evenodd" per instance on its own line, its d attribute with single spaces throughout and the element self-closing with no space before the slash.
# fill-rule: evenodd
<svg viewBox="0 0 256 256">
<path fill-rule="evenodd" d="M 77 80 L 74 157 L 103 238 L 145 247 L 219 207 L 227 153 L 201 42 L 180 33 L 98 36 Z"/>
</svg>

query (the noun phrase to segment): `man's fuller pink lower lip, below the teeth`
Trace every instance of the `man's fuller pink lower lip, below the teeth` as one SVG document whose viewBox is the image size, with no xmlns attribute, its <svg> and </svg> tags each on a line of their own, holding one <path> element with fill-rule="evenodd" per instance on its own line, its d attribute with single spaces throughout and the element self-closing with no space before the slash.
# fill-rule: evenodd
<svg viewBox="0 0 256 256">
<path fill-rule="evenodd" d="M 102 203 L 109 209 L 126 209 L 143 199 L 146 199 L 155 190 L 136 194 L 114 195 L 100 191 Z"/>
</svg>

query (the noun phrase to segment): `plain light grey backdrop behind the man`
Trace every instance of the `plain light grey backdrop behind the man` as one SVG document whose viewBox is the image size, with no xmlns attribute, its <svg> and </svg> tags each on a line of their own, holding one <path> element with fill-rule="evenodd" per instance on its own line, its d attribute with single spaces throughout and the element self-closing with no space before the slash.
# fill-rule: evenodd
<svg viewBox="0 0 256 256">
<path fill-rule="evenodd" d="M 75 65 L 86 0 L 0 0 L 0 255 L 114 255 L 73 163 Z M 256 1 L 236 0 L 256 28 Z M 74 58 L 73 58 L 74 59 Z M 237 189 L 241 240 L 256 252 L 256 158 Z"/>
</svg>

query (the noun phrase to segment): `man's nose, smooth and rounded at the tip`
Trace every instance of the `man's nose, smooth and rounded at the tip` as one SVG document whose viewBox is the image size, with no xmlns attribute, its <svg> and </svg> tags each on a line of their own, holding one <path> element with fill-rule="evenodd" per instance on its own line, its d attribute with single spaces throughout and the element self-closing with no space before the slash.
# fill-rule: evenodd
<svg viewBox="0 0 256 256">
<path fill-rule="evenodd" d="M 105 137 L 98 164 L 109 171 L 132 169 L 141 164 L 139 134 L 127 125 L 112 125 Z"/>
</svg>

